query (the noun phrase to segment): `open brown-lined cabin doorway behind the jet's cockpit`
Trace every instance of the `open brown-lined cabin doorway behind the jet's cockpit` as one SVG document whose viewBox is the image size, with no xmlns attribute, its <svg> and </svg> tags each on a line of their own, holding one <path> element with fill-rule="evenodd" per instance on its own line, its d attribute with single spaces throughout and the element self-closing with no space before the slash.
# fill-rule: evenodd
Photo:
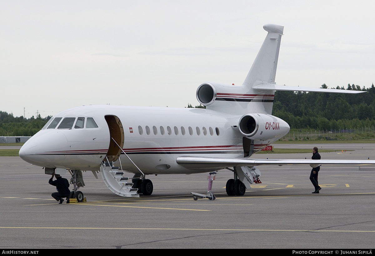
<svg viewBox="0 0 375 256">
<path fill-rule="evenodd" d="M 121 154 L 121 148 L 124 146 L 124 129 L 122 127 L 120 118 L 115 115 L 106 115 L 108 128 L 110 129 L 110 147 L 108 148 L 108 161 L 115 162 Z M 120 147 L 113 141 L 115 140 Z"/>
</svg>

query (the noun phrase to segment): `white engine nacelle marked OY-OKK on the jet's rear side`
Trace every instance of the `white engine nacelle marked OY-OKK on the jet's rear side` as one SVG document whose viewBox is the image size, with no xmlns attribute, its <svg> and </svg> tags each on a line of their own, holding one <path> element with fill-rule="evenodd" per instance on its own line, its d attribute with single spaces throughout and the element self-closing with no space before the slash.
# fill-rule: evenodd
<svg viewBox="0 0 375 256">
<path fill-rule="evenodd" d="M 290 127 L 284 120 L 267 114 L 246 114 L 240 118 L 238 125 L 243 136 L 254 140 L 281 138 Z"/>
</svg>

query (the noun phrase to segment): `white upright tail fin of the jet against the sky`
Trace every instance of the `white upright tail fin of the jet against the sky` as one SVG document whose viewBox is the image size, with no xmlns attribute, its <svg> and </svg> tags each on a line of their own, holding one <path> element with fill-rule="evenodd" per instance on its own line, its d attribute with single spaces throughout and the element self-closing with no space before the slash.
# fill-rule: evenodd
<svg viewBox="0 0 375 256">
<path fill-rule="evenodd" d="M 278 65 L 281 35 L 284 27 L 274 24 L 263 26 L 268 32 L 257 58 L 246 76 L 243 86 L 250 90 L 253 85 L 275 82 L 276 67 Z"/>
</svg>

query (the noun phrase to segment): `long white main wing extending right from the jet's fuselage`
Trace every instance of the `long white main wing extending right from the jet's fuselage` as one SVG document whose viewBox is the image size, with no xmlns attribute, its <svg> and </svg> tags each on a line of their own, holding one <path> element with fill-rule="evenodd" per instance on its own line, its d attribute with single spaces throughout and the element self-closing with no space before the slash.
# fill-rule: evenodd
<svg viewBox="0 0 375 256">
<path fill-rule="evenodd" d="M 317 167 L 324 164 L 375 164 L 375 160 L 248 159 L 196 156 L 180 156 L 177 157 L 176 162 L 189 169 L 212 169 L 257 165 L 310 165 L 312 167 Z"/>
</svg>

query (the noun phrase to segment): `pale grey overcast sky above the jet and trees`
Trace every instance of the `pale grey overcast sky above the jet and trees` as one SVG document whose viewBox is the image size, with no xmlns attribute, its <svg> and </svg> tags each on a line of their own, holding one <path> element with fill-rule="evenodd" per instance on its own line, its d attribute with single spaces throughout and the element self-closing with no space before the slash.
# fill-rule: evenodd
<svg viewBox="0 0 375 256">
<path fill-rule="evenodd" d="M 284 26 L 276 83 L 375 82 L 373 1 L 0 0 L 0 111 L 197 105 L 204 82 L 241 85 Z"/>
</svg>

